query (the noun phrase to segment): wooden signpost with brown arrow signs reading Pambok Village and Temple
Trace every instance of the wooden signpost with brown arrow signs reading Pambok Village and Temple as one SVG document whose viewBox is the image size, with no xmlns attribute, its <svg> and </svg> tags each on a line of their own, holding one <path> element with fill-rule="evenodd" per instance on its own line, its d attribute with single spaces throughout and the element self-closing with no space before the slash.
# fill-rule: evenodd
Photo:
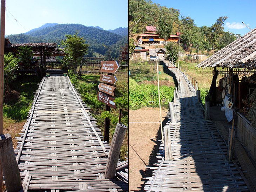
<svg viewBox="0 0 256 192">
<path fill-rule="evenodd" d="M 113 85 L 117 82 L 117 79 L 115 76 L 113 76 L 113 73 L 116 73 L 117 69 L 119 68 L 119 64 L 117 63 L 117 61 L 101 61 L 100 63 L 101 63 L 100 72 L 105 72 L 108 74 L 100 75 L 100 81 L 106 84 L 100 83 L 98 85 L 99 92 L 98 92 L 97 99 L 102 103 L 106 104 L 106 108 L 105 108 L 106 111 L 110 111 L 110 107 L 116 109 L 116 104 L 113 102 L 115 98 L 111 96 L 115 96 L 114 95 L 115 87 L 113 87 Z M 106 140 L 109 143 L 109 118 L 108 117 L 105 118 L 104 140 Z"/>
</svg>

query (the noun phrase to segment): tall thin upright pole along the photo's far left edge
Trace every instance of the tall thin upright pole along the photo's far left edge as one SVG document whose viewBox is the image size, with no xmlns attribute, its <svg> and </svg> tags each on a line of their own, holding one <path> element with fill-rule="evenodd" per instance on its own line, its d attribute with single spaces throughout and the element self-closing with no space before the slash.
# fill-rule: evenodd
<svg viewBox="0 0 256 192">
<path fill-rule="evenodd" d="M 4 107 L 4 54 L 5 54 L 5 0 L 1 0 L 1 19 L 0 19 L 0 82 L 1 82 L 1 99 L 0 99 L 0 135 L 3 131 L 3 107 Z M 0 166 L 0 190 L 3 188 L 2 163 Z"/>
</svg>

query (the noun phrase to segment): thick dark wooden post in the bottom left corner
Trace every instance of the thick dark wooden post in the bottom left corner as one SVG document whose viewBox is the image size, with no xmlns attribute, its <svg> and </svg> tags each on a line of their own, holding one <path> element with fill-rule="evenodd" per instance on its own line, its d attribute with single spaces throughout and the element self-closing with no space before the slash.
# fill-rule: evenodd
<svg viewBox="0 0 256 192">
<path fill-rule="evenodd" d="M 21 179 L 18 164 L 10 134 L 0 135 L 0 160 L 3 167 L 5 186 L 8 192 L 17 192 L 21 189 Z"/>
</svg>

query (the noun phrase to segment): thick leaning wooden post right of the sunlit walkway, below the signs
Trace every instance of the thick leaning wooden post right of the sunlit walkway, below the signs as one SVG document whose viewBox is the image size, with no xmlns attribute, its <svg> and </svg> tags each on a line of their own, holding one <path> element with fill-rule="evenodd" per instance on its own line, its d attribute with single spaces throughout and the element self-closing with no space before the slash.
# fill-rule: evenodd
<svg viewBox="0 0 256 192">
<path fill-rule="evenodd" d="M 116 165 L 119 157 L 119 153 L 121 150 L 121 146 L 123 143 L 123 138 L 126 133 L 127 126 L 117 123 L 115 133 L 112 139 L 112 143 L 110 145 L 106 170 L 105 170 L 105 178 L 113 179 L 116 173 Z"/>
</svg>

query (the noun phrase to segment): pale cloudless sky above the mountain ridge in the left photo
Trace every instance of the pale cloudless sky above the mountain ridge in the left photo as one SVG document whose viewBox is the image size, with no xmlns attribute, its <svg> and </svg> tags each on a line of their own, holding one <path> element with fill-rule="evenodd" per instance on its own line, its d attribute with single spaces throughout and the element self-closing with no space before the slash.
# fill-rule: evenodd
<svg viewBox="0 0 256 192">
<path fill-rule="evenodd" d="M 5 35 L 26 33 L 45 23 L 105 30 L 128 27 L 128 0 L 6 0 L 6 9 Z"/>
</svg>

